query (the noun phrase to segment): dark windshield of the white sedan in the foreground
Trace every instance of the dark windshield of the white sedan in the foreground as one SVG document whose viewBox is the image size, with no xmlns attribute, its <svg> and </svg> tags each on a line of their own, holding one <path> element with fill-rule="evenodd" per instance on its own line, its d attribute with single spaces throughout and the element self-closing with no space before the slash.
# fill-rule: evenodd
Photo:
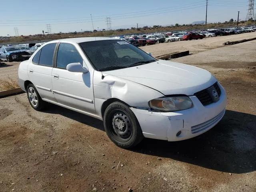
<svg viewBox="0 0 256 192">
<path fill-rule="evenodd" d="M 98 71 L 114 70 L 156 61 L 136 46 L 122 40 L 80 43 L 86 56 Z"/>
</svg>

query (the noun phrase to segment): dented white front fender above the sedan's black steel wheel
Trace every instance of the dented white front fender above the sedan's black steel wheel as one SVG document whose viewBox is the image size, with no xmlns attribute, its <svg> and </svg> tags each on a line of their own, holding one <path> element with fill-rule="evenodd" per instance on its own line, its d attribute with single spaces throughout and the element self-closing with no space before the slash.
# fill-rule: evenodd
<svg viewBox="0 0 256 192">
<path fill-rule="evenodd" d="M 93 89 L 96 113 L 100 116 L 103 102 L 110 98 L 117 98 L 132 107 L 148 108 L 150 100 L 164 96 L 157 90 L 113 75 L 102 78 L 98 71 L 94 71 Z"/>
</svg>

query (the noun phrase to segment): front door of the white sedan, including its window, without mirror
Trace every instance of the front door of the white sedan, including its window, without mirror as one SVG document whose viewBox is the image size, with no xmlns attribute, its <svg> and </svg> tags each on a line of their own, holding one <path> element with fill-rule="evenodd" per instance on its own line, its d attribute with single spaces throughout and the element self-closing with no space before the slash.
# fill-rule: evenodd
<svg viewBox="0 0 256 192">
<path fill-rule="evenodd" d="M 52 70 L 52 87 L 59 104 L 95 114 L 92 73 L 69 72 L 66 66 L 80 63 L 87 67 L 78 52 L 80 47 L 60 43 L 57 52 L 56 66 Z M 80 50 L 82 52 L 82 50 Z"/>
</svg>

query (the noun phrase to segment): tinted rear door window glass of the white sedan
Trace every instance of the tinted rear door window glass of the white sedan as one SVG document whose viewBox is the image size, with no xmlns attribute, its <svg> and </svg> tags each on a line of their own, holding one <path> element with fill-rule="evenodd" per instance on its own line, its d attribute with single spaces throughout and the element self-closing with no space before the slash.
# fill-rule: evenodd
<svg viewBox="0 0 256 192">
<path fill-rule="evenodd" d="M 52 66 L 52 60 L 54 55 L 56 43 L 47 44 L 41 49 L 39 58 L 40 65 Z"/>
</svg>

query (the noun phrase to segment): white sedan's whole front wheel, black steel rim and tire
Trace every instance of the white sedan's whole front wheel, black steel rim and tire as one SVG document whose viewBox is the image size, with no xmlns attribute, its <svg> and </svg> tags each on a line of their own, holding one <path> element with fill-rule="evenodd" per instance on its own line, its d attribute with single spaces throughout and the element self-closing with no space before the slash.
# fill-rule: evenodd
<svg viewBox="0 0 256 192">
<path fill-rule="evenodd" d="M 121 102 L 113 102 L 106 108 L 103 122 L 110 140 L 121 148 L 132 148 L 144 138 L 136 116 Z"/>
</svg>

